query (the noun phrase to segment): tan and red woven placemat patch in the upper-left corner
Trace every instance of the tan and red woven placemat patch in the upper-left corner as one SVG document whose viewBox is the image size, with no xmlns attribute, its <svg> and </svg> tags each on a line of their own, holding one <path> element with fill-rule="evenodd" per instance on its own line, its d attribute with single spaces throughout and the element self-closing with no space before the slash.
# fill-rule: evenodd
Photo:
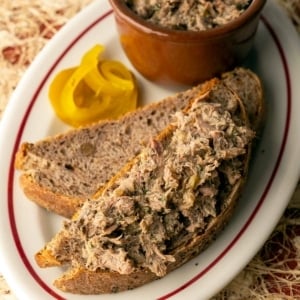
<svg viewBox="0 0 300 300">
<path fill-rule="evenodd" d="M 0 118 L 30 63 L 51 37 L 92 0 L 1 0 Z"/>
</svg>

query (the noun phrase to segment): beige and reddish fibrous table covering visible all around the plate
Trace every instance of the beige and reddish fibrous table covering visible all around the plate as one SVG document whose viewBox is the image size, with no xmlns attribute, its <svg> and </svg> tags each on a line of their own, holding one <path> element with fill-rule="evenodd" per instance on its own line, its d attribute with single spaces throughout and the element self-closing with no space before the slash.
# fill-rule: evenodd
<svg viewBox="0 0 300 300">
<path fill-rule="evenodd" d="M 278 1 L 300 34 L 300 0 L 269 1 Z M 63 24 L 90 2 L 92 0 L 1 1 L 0 118 L 36 54 Z M 214 299 L 300 299 L 299 212 L 300 184 L 269 240 Z M 15 300 L 15 297 L 0 274 L 0 300 L 8 299 Z"/>
</svg>

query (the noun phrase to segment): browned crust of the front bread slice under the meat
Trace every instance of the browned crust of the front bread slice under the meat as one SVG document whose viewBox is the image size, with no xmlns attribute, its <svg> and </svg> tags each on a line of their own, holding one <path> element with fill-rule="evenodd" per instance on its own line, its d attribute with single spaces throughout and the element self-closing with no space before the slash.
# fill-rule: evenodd
<svg viewBox="0 0 300 300">
<path fill-rule="evenodd" d="M 214 79 L 206 83 L 202 87 L 202 95 L 205 95 L 218 82 L 218 80 Z M 239 105 L 241 108 L 240 117 L 243 119 L 243 122 L 247 124 L 248 120 L 243 103 L 239 101 Z M 190 108 L 188 107 L 186 111 L 188 111 L 189 109 Z M 168 126 L 158 135 L 157 140 L 163 141 L 172 130 L 173 126 Z M 174 252 L 171 253 L 175 257 L 175 262 L 168 263 L 167 273 L 171 272 L 174 269 L 177 269 L 190 259 L 197 256 L 226 226 L 233 214 L 237 200 L 240 197 L 241 190 L 245 183 L 245 178 L 248 173 L 248 166 L 251 157 L 251 148 L 252 145 L 251 143 L 249 143 L 249 145 L 247 146 L 246 156 L 244 158 L 243 174 L 241 178 L 234 184 L 229 195 L 227 195 L 227 198 L 222 204 L 221 212 L 219 213 L 219 215 L 209 221 L 204 233 L 196 234 L 192 239 L 188 240 L 185 244 L 176 248 Z M 95 195 L 95 198 L 105 193 L 105 190 L 109 189 L 118 178 L 122 177 L 122 175 L 125 174 L 126 171 L 135 164 L 137 159 L 138 157 L 124 166 L 124 168 L 109 181 L 105 188 L 101 189 Z M 73 218 L 76 219 L 76 217 L 77 215 L 75 214 Z M 54 237 L 54 241 L 57 237 Z M 62 262 L 59 262 L 55 259 L 54 255 L 51 253 L 51 247 L 47 248 L 47 245 L 44 249 L 37 253 L 36 261 L 41 267 L 63 264 Z M 131 274 L 122 275 L 116 272 L 105 270 L 92 272 L 88 269 L 80 267 L 69 269 L 60 278 L 55 280 L 54 285 L 62 291 L 75 294 L 102 294 L 133 289 L 151 282 L 157 278 L 158 277 L 154 273 L 150 272 L 147 269 L 138 269 Z"/>
</svg>

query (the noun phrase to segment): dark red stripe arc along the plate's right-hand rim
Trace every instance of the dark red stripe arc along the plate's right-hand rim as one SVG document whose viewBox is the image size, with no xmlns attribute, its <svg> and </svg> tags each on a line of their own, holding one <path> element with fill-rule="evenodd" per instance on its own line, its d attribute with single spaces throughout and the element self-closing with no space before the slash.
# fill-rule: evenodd
<svg viewBox="0 0 300 300">
<path fill-rule="evenodd" d="M 212 269 L 228 252 L 229 250 L 238 242 L 238 240 L 241 238 L 241 236 L 244 234 L 244 232 L 246 231 L 246 229 L 249 227 L 249 225 L 252 223 L 252 221 L 254 220 L 257 212 L 259 211 L 260 207 L 262 206 L 262 204 L 264 203 L 267 194 L 272 186 L 273 180 L 276 176 L 276 173 L 278 171 L 278 168 L 280 166 L 280 162 L 284 153 L 284 149 L 286 146 L 286 141 L 287 141 L 287 137 L 288 137 L 288 132 L 289 132 L 289 127 L 290 127 L 290 119 L 291 119 L 291 80 L 290 80 L 290 73 L 289 73 L 289 68 L 288 68 L 288 64 L 287 64 L 287 60 L 286 60 L 286 56 L 283 50 L 283 47 L 279 41 L 278 36 L 276 35 L 274 29 L 272 28 L 271 24 L 268 22 L 268 20 L 262 16 L 262 21 L 265 24 L 266 28 L 269 30 L 277 48 L 280 54 L 280 58 L 282 60 L 282 64 L 283 64 L 283 68 L 284 68 L 284 73 L 285 73 L 285 80 L 286 80 L 286 85 L 287 85 L 287 112 L 286 112 L 286 122 L 285 122 L 285 128 L 284 128 L 284 135 L 283 135 L 283 139 L 282 139 L 282 143 L 281 143 L 281 147 L 280 147 L 280 151 L 276 160 L 276 164 L 274 166 L 273 172 L 271 174 L 271 177 L 264 189 L 264 192 L 259 200 L 259 202 L 257 203 L 255 209 L 253 210 L 252 214 L 250 215 L 250 217 L 248 218 L 248 220 L 246 221 L 245 225 L 241 228 L 241 230 L 238 232 L 238 234 L 235 236 L 235 238 L 228 244 L 228 246 L 206 267 L 204 268 L 201 272 L 199 272 L 196 276 L 194 276 L 192 279 L 190 279 L 189 281 L 187 281 L 185 284 L 181 285 L 180 287 L 178 287 L 177 289 L 175 289 L 174 291 L 171 291 L 170 293 L 158 298 L 157 300 L 165 300 L 168 299 L 174 295 L 176 295 L 177 293 L 179 293 L 180 291 L 188 288 L 190 285 L 192 285 L 193 283 L 195 283 L 196 281 L 198 281 L 201 277 L 203 277 L 206 273 L 209 272 L 210 269 Z"/>
</svg>

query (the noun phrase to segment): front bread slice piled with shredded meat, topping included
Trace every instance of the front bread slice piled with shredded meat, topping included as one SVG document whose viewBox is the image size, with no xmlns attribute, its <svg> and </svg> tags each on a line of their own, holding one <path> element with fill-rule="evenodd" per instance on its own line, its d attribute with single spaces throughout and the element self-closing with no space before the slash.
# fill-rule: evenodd
<svg viewBox="0 0 300 300">
<path fill-rule="evenodd" d="M 254 132 L 238 95 L 217 79 L 36 254 L 69 265 L 55 281 L 79 294 L 119 292 L 165 276 L 225 226 L 243 187 Z"/>
</svg>

